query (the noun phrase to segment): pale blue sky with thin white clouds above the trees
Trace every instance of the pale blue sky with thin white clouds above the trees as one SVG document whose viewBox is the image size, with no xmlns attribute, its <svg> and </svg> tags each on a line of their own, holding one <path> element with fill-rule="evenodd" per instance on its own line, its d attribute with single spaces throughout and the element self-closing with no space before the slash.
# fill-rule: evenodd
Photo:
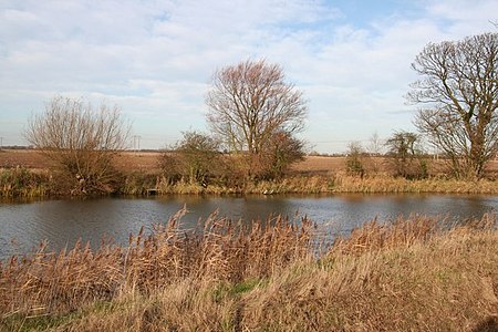
<svg viewBox="0 0 498 332">
<path fill-rule="evenodd" d="M 309 149 L 342 153 L 415 131 L 415 56 L 492 22 L 496 0 L 0 0 L 0 137 L 28 145 L 29 118 L 62 95 L 118 105 L 134 147 L 164 148 L 209 133 L 216 70 L 264 59 L 308 101 Z"/>
</svg>

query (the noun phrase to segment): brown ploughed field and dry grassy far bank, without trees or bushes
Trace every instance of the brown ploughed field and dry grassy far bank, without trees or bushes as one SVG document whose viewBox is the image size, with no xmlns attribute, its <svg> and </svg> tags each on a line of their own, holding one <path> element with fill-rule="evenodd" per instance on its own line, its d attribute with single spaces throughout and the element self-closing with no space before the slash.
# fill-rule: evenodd
<svg viewBox="0 0 498 332">
<path fill-rule="evenodd" d="M 429 160 L 429 176 L 424 179 L 405 179 L 392 176 L 390 160 L 382 156 L 365 156 L 365 174 L 349 175 L 345 156 L 305 156 L 292 165 L 278 180 L 246 181 L 243 186 L 207 185 L 179 180 L 170 184 L 162 176 L 158 164 L 160 152 L 120 153 L 115 167 L 124 175 L 114 194 L 336 194 L 336 193 L 438 193 L 438 194 L 498 194 L 498 160 L 491 160 L 487 176 L 479 180 L 458 180 L 448 176 L 444 162 Z M 0 151 L 0 197 L 52 197 L 59 193 L 51 164 L 38 151 Z"/>
</svg>

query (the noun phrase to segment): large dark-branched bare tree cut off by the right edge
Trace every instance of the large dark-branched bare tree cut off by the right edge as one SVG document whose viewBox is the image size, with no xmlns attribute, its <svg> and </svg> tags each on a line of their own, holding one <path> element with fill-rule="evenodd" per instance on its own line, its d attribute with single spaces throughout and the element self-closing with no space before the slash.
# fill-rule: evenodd
<svg viewBox="0 0 498 332">
<path fill-rule="evenodd" d="M 412 66 L 423 76 L 408 94 L 424 105 L 415 125 L 457 177 L 481 177 L 498 152 L 498 34 L 429 43 Z"/>
</svg>

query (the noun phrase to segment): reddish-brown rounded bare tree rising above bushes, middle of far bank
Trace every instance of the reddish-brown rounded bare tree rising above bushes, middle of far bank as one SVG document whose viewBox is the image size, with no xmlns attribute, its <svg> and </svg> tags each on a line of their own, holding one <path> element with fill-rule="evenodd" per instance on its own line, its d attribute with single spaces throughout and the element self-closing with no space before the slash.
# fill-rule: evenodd
<svg viewBox="0 0 498 332">
<path fill-rule="evenodd" d="M 229 151 L 260 155 L 276 133 L 292 135 L 303 128 L 307 102 L 286 82 L 278 64 L 245 61 L 217 71 L 206 103 L 207 121 Z"/>
</svg>

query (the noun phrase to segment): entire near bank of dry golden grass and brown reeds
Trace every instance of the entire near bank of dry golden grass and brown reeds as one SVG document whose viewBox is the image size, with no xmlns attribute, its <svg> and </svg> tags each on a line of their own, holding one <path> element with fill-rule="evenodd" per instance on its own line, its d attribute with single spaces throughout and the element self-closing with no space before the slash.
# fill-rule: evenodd
<svg viewBox="0 0 498 332">
<path fill-rule="evenodd" d="M 318 246 L 313 225 L 241 230 L 181 212 L 96 251 L 43 248 L 1 267 L 2 331 L 496 331 L 495 216 L 372 221 Z M 318 255 L 318 252 L 321 252 Z M 494 330 L 495 329 L 495 330 Z"/>
</svg>

